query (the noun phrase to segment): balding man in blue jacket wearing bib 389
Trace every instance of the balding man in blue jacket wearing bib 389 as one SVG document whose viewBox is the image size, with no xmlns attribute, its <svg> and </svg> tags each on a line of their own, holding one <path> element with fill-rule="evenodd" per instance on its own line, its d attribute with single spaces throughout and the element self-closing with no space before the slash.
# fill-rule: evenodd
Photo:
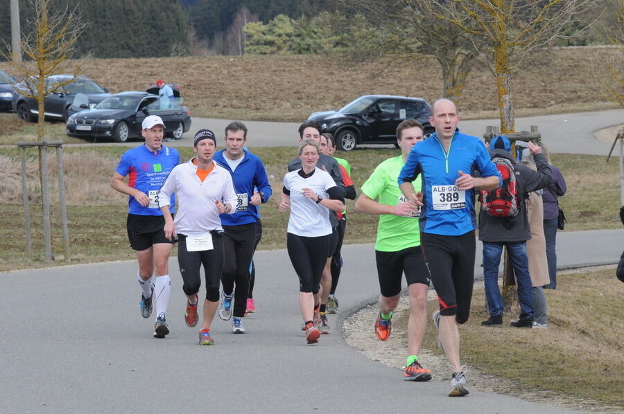
<svg viewBox="0 0 624 414">
<path fill-rule="evenodd" d="M 440 303 L 433 323 L 439 329 L 440 348 L 453 368 L 449 397 L 460 397 L 468 390 L 457 323 L 468 321 L 474 285 L 474 191 L 494 190 L 502 181 L 483 142 L 457 129 L 459 116 L 453 102 L 437 100 L 429 123 L 435 134 L 413 147 L 398 182 L 410 204 L 424 206 L 420 245 Z M 480 177 L 473 176 L 476 171 Z M 415 192 L 412 185 L 419 175 L 424 192 Z"/>
</svg>

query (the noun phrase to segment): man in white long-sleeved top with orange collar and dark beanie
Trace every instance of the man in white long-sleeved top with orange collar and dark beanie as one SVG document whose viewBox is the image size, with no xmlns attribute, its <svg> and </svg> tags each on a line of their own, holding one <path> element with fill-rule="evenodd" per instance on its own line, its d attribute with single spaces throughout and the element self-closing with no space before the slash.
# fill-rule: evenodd
<svg viewBox="0 0 624 414">
<path fill-rule="evenodd" d="M 158 194 L 164 215 L 164 235 L 180 241 L 177 262 L 182 275 L 182 290 L 187 295 L 184 322 L 189 327 L 198 323 L 198 292 L 200 269 L 204 267 L 206 296 L 203 307 L 200 345 L 213 345 L 210 325 L 219 303 L 219 285 L 223 272 L 223 227 L 220 214 L 236 213 L 236 191 L 232 175 L 214 162 L 216 138 L 209 129 L 200 129 L 193 140 L 195 156 L 173 168 Z M 177 195 L 175 220 L 169 210 L 169 200 Z"/>
</svg>

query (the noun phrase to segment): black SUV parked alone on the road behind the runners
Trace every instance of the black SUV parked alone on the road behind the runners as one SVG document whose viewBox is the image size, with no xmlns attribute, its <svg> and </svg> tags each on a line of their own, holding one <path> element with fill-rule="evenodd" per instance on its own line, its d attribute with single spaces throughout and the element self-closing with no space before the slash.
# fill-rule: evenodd
<svg viewBox="0 0 624 414">
<path fill-rule="evenodd" d="M 392 144 L 401 121 L 415 118 L 424 133 L 433 132 L 429 124 L 431 105 L 421 98 L 366 95 L 338 109 L 315 112 L 308 118 L 322 125 L 323 132 L 336 138 L 338 149 L 351 151 L 360 144 Z"/>
</svg>

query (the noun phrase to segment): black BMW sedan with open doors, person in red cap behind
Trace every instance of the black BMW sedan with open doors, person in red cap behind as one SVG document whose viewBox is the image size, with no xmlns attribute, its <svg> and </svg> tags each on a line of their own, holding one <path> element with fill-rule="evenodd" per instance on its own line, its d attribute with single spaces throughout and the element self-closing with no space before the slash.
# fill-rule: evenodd
<svg viewBox="0 0 624 414">
<path fill-rule="evenodd" d="M 191 127 L 191 111 L 187 107 L 174 103 L 163 108 L 158 96 L 151 93 L 121 92 L 98 103 L 94 109 L 69 116 L 67 135 L 123 143 L 141 136 L 141 123 L 149 115 L 162 118 L 167 138 L 182 138 Z"/>
</svg>

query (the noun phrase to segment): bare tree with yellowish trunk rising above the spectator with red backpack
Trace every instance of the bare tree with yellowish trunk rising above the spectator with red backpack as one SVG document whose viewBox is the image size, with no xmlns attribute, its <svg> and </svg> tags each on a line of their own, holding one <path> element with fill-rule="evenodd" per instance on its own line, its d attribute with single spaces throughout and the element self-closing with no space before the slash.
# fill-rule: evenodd
<svg viewBox="0 0 624 414">
<path fill-rule="evenodd" d="M 593 7 L 596 0 L 433 0 L 426 8 L 437 19 L 460 28 L 476 55 L 496 75 L 501 132 L 514 132 L 512 73 L 524 61 L 548 50 L 566 24 Z M 449 7 L 436 8 L 444 4 Z M 577 30 L 584 30 L 586 25 Z"/>
</svg>

